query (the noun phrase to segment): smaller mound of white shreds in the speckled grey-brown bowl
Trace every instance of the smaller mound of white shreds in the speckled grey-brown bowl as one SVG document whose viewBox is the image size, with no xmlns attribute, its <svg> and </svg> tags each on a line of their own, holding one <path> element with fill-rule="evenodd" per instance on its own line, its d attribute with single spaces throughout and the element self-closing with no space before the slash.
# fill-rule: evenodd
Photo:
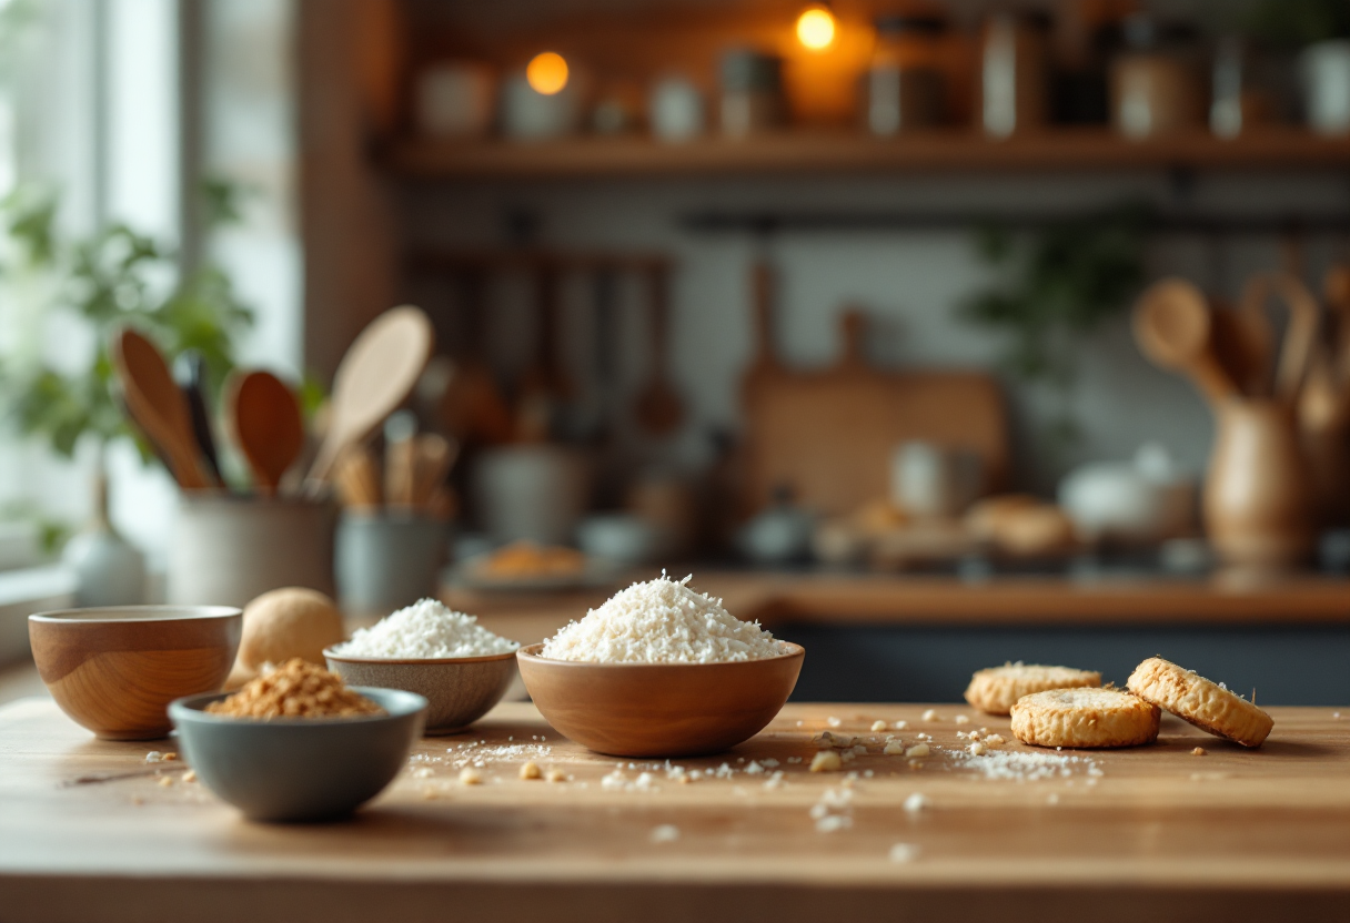
<svg viewBox="0 0 1350 923">
<path fill-rule="evenodd" d="M 356 629 L 351 641 L 333 648 L 333 653 L 390 660 L 447 660 L 510 653 L 520 646 L 477 622 L 474 615 L 456 613 L 435 599 L 423 599 L 369 629 Z"/>
</svg>

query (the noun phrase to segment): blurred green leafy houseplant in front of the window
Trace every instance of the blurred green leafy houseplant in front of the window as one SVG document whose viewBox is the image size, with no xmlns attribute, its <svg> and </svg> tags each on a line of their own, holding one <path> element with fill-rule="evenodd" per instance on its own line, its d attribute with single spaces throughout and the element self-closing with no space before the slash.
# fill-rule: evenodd
<svg viewBox="0 0 1350 923">
<path fill-rule="evenodd" d="M 205 194 L 212 224 L 234 219 L 236 193 L 231 186 L 211 184 Z M 219 393 L 234 366 L 234 339 L 252 317 L 219 267 L 204 264 L 180 274 L 169 247 L 124 224 L 111 224 L 85 239 L 66 239 L 58 232 L 57 211 L 58 200 L 50 190 L 31 186 L 0 202 L 5 232 L 0 283 L 16 313 L 15 302 L 28 302 L 31 339 L 40 340 L 46 324 L 73 321 L 88 331 L 92 348 L 82 358 L 45 356 L 30 344 L 27 351 L 7 356 L 0 366 L 0 406 L 20 435 L 45 440 L 58 456 L 72 457 L 84 440 L 94 443 L 96 518 L 86 534 L 93 536 L 89 541 L 104 542 L 100 553 L 113 553 L 112 544 L 122 540 L 107 518 L 105 448 L 131 439 L 143 459 L 153 456 L 115 397 L 108 354 L 112 332 L 134 325 L 170 360 L 185 349 L 198 351 Z M 68 553 L 88 551 L 88 544 Z M 127 567 L 128 561 L 124 557 Z M 130 583 L 105 594 L 116 600 L 134 595 Z M 109 605 L 113 599 L 82 594 L 82 605 L 94 602 Z"/>
</svg>

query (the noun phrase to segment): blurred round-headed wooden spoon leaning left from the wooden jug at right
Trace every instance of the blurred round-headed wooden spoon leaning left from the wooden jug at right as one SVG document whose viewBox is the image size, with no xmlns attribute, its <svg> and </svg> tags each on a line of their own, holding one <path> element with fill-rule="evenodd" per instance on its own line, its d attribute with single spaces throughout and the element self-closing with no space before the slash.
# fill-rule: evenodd
<svg viewBox="0 0 1350 923">
<path fill-rule="evenodd" d="M 1134 339 L 1162 368 L 1180 371 L 1219 405 L 1238 395 L 1238 387 L 1219 364 L 1212 345 L 1212 317 L 1204 293 L 1185 279 L 1162 279 L 1134 306 Z"/>
</svg>

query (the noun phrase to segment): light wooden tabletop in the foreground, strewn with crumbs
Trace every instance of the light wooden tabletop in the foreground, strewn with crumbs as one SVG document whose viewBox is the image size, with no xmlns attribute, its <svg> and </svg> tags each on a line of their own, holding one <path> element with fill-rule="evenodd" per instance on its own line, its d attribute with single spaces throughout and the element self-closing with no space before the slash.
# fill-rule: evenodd
<svg viewBox="0 0 1350 923">
<path fill-rule="evenodd" d="M 923 708 L 790 704 L 732 753 L 679 761 L 726 762 L 729 777 L 675 784 L 655 764 L 625 762 L 616 789 L 601 781 L 613 758 L 562 739 L 529 704 L 504 704 L 468 737 L 423 741 L 414 765 L 431 775 L 405 772 L 354 819 L 267 826 L 197 783 L 61 787 L 153 769 L 146 752 L 171 744 L 94 741 L 51 702 L 27 699 L 0 708 L 0 918 L 1137 923 L 1350 912 L 1350 708 L 1272 708 L 1274 733 L 1257 752 L 1169 718 L 1157 746 L 1079 752 L 1040 780 L 991 779 L 956 756 L 959 730 L 1007 735 L 1007 719 L 972 714 L 963 726 L 954 717 L 968 708 L 937 706 L 942 719 L 923 722 Z M 864 739 L 880 738 L 873 721 L 903 719 L 907 742 L 922 730 L 938 752 L 911 768 L 873 744 L 849 764 L 852 781 L 787 762 L 810 760 L 832 717 Z M 483 746 L 466 749 L 475 739 Z M 521 757 L 490 750 L 522 742 L 548 748 L 535 758 L 571 780 L 522 781 Z M 1197 744 L 1208 756 L 1191 754 Z M 487 754 L 486 780 L 466 787 L 452 761 L 473 753 Z M 747 772 L 765 758 L 780 762 L 780 785 Z M 643 771 L 648 791 L 634 785 Z M 915 793 L 926 804 L 906 810 Z M 813 818 L 826 798 L 826 812 L 846 818 L 826 822 L 833 831 Z M 657 833 L 666 826 L 675 831 Z"/>
</svg>

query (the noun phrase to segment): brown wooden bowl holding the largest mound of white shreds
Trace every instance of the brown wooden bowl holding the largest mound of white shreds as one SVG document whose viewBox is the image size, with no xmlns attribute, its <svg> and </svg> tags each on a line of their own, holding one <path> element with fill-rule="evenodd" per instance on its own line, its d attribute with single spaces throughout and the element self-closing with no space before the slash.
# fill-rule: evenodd
<svg viewBox="0 0 1350 923">
<path fill-rule="evenodd" d="M 597 753 L 718 753 L 761 731 L 796 686 L 806 650 L 725 664 L 599 664 L 516 653 L 535 706 L 560 734 Z"/>
</svg>

